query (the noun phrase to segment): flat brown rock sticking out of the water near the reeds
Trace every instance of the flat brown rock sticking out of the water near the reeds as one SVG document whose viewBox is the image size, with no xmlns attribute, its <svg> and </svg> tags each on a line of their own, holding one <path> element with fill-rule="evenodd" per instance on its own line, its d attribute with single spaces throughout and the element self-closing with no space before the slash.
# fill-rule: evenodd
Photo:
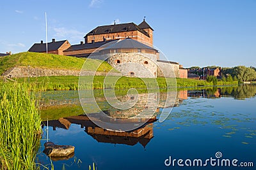
<svg viewBox="0 0 256 170">
<path fill-rule="evenodd" d="M 44 153 L 49 157 L 68 157 L 75 152 L 75 147 L 70 145 L 55 145 L 52 142 L 44 144 Z"/>
</svg>

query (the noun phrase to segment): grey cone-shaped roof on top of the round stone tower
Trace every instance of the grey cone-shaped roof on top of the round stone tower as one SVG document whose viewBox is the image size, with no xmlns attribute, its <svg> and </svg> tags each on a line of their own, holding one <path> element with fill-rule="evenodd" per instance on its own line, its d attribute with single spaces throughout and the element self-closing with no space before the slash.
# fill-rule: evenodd
<svg viewBox="0 0 256 170">
<path fill-rule="evenodd" d="M 149 49 L 149 50 L 157 51 L 155 48 L 147 46 L 147 45 L 140 43 L 139 41 L 136 41 L 131 38 L 120 39 L 120 40 L 116 41 L 116 43 L 109 45 L 108 47 L 104 48 L 103 50 L 118 49 L 118 48 L 139 48 L 139 49 Z"/>
</svg>

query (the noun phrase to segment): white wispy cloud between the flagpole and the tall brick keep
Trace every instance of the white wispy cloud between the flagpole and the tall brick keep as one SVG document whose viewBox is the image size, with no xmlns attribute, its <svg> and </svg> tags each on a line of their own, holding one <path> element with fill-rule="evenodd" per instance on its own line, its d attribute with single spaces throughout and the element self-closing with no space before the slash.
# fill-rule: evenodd
<svg viewBox="0 0 256 170">
<path fill-rule="evenodd" d="M 60 28 L 54 28 L 53 29 L 56 33 L 54 34 L 54 37 L 56 38 L 65 38 L 70 41 L 81 39 L 84 37 L 83 32 L 79 32 L 76 29 L 67 29 L 65 27 Z"/>
</svg>

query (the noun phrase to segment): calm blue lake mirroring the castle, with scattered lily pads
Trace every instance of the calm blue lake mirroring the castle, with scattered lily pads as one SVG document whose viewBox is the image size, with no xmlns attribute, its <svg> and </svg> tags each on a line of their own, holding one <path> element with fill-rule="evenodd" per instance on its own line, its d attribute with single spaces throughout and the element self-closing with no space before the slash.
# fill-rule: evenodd
<svg viewBox="0 0 256 170">
<path fill-rule="evenodd" d="M 117 118 L 136 115 L 143 106 L 116 111 L 100 91 L 94 93 L 100 108 Z M 74 155 L 52 159 L 54 169 L 88 169 L 93 162 L 99 170 L 253 169 L 241 167 L 241 162 L 247 166 L 253 162 L 256 166 L 255 94 L 256 85 L 180 90 L 173 107 L 159 104 L 156 114 L 145 125 L 128 132 L 114 132 L 102 129 L 84 115 L 77 91 L 42 92 L 39 104 L 43 134 L 36 162 L 51 167 L 51 159 L 43 153 L 48 122 L 49 141 L 75 146 Z M 159 122 L 163 108 L 172 112 L 164 122 Z M 93 107 L 88 107 L 90 110 L 92 114 L 97 112 Z M 202 160 L 202 167 L 193 166 L 200 166 L 198 159 Z M 215 161 L 215 166 L 210 164 L 211 159 L 216 160 L 211 162 L 214 165 Z M 221 166 L 223 159 L 230 160 L 230 167 Z"/>
</svg>

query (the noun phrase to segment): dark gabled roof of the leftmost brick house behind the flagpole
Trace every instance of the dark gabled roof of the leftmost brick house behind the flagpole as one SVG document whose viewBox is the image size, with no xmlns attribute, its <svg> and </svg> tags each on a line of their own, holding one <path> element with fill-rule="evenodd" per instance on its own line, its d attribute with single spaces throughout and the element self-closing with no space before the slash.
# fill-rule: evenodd
<svg viewBox="0 0 256 170">
<path fill-rule="evenodd" d="M 61 45 L 63 45 L 67 40 L 63 41 L 55 41 L 51 43 L 47 43 L 47 50 L 49 52 L 58 50 Z M 46 43 L 35 43 L 31 48 L 28 50 L 29 52 L 46 52 Z"/>
</svg>

